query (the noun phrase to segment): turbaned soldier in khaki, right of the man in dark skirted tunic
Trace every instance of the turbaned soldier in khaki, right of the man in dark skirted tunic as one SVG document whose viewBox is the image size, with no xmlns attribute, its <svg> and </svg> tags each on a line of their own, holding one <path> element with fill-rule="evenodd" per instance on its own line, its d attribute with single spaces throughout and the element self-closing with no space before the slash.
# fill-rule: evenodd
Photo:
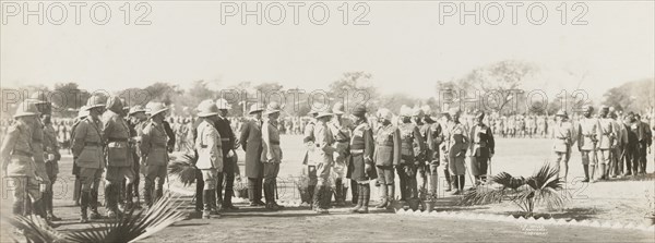
<svg viewBox="0 0 655 243">
<path fill-rule="evenodd" d="M 381 202 L 377 208 L 388 208 L 395 196 L 394 167 L 401 163 L 401 131 L 393 125 L 393 113 L 389 109 L 378 110 L 380 126 L 376 135 L 373 161 L 378 171 Z"/>
</svg>

